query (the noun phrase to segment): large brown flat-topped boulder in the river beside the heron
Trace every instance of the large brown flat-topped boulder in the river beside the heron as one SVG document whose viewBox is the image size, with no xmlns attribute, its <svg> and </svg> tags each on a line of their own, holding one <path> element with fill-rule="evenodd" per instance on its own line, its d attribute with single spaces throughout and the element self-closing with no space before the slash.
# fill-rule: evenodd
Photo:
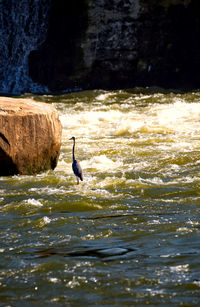
<svg viewBox="0 0 200 307">
<path fill-rule="evenodd" d="M 54 169 L 61 134 L 62 126 L 53 105 L 0 97 L 0 175 Z"/>
</svg>

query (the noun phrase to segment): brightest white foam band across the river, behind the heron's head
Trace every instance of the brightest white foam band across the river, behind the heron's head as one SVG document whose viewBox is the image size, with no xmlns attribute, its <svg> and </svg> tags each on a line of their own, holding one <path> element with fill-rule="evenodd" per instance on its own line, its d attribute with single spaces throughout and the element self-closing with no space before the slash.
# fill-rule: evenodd
<svg viewBox="0 0 200 307">
<path fill-rule="evenodd" d="M 69 132 L 73 130 L 80 136 L 125 136 L 134 133 L 169 133 L 179 135 L 199 134 L 198 120 L 200 117 L 199 103 L 180 102 L 174 99 L 170 104 L 154 104 L 138 107 L 132 103 L 129 110 L 124 112 L 124 105 L 118 104 L 118 110 L 110 104 L 106 110 L 104 106 L 94 111 L 92 104 L 88 110 L 70 114 L 62 114 L 63 127 Z M 85 107 L 85 109 L 87 109 Z M 104 109 L 104 110 L 102 110 Z M 65 131 L 64 131 L 65 133 Z"/>
</svg>

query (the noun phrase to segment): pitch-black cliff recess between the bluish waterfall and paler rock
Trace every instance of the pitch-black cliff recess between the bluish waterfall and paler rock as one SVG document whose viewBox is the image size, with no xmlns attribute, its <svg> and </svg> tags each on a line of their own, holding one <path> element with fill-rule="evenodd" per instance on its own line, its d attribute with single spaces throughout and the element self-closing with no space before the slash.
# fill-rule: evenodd
<svg viewBox="0 0 200 307">
<path fill-rule="evenodd" d="M 31 78 L 59 92 L 79 86 L 84 74 L 82 41 L 88 24 L 86 0 L 52 0 L 45 42 L 29 55 Z"/>
</svg>

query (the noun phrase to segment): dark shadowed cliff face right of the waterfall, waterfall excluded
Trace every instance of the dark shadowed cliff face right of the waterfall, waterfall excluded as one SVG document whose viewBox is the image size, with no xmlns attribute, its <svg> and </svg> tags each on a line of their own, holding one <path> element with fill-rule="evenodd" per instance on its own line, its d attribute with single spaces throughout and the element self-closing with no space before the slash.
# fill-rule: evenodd
<svg viewBox="0 0 200 307">
<path fill-rule="evenodd" d="M 52 0 L 30 75 L 51 91 L 199 87 L 199 9 L 198 0 Z"/>
</svg>

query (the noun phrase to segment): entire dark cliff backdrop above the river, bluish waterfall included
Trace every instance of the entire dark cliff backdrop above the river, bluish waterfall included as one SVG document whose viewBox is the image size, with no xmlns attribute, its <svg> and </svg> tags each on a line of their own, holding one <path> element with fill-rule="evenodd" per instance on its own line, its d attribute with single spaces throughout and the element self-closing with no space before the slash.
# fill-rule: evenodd
<svg viewBox="0 0 200 307">
<path fill-rule="evenodd" d="M 2 93 L 200 87 L 198 0 L 21 2 L 0 3 Z"/>
</svg>

